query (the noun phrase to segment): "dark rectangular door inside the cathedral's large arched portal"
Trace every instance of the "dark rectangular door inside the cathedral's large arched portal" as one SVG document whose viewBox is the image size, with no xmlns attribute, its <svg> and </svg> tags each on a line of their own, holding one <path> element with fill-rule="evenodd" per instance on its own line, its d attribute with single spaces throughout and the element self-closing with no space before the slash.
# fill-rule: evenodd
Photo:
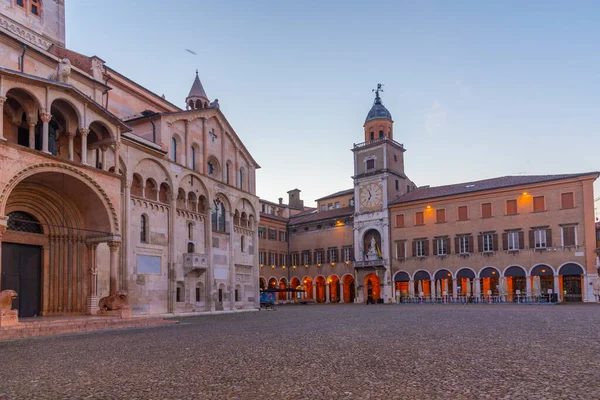
<svg viewBox="0 0 600 400">
<path fill-rule="evenodd" d="M 18 294 L 13 308 L 19 317 L 40 315 L 42 298 L 42 248 L 2 243 L 2 290 Z"/>
</svg>

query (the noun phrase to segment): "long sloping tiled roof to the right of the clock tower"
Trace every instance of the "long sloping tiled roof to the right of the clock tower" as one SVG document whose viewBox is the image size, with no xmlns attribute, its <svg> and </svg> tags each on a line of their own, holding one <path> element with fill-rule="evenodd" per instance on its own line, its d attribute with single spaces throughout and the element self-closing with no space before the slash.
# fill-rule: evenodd
<svg viewBox="0 0 600 400">
<path fill-rule="evenodd" d="M 586 175 L 599 175 L 600 172 L 586 172 L 580 174 L 562 175 L 526 175 L 502 176 L 499 178 L 484 179 L 481 181 L 457 183 L 454 185 L 422 187 L 406 193 L 392 201 L 390 204 L 408 203 L 410 201 L 433 199 L 436 197 L 452 196 L 464 193 L 474 193 L 483 190 L 500 189 L 511 186 L 530 185 L 534 183 L 557 181 L 561 179 L 576 178 Z"/>
</svg>

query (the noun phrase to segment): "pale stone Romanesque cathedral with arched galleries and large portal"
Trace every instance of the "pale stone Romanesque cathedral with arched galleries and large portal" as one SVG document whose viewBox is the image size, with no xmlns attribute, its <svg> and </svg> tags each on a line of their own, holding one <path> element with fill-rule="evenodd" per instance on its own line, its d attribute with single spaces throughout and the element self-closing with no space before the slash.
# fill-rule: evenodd
<svg viewBox="0 0 600 400">
<path fill-rule="evenodd" d="M 65 47 L 64 1 L 0 7 L 0 285 L 20 316 L 119 291 L 134 314 L 258 307 L 259 165 L 198 73 L 180 108 Z"/>
</svg>

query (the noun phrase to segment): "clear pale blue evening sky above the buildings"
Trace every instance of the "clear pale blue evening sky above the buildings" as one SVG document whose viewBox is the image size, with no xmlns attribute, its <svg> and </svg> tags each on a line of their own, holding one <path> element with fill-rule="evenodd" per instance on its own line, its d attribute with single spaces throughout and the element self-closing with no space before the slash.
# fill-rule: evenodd
<svg viewBox="0 0 600 400">
<path fill-rule="evenodd" d="M 67 47 L 182 108 L 198 69 L 261 198 L 351 188 L 377 83 L 417 186 L 600 170 L 597 2 L 141 4 L 67 1 Z"/>
</svg>

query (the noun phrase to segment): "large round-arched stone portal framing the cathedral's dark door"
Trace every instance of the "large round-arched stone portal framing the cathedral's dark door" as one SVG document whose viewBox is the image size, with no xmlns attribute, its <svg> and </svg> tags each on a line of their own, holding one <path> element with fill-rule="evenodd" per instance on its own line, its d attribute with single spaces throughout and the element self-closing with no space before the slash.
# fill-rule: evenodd
<svg viewBox="0 0 600 400">
<path fill-rule="evenodd" d="M 0 193 L 0 215 L 19 215 L 11 218 L 17 221 L 28 214 L 43 227 L 42 233 L 14 229 L 2 237 L 2 275 L 9 271 L 14 257 L 18 257 L 19 268 L 40 271 L 39 301 L 33 300 L 39 305 L 22 315 L 95 313 L 98 298 L 118 289 L 119 210 L 108 194 L 118 196 L 120 181 L 107 180 L 101 191 L 88 175 L 63 164 L 47 164 L 23 170 L 13 182 Z M 31 251 L 39 251 L 39 255 L 25 260 L 17 254 L 19 250 L 10 249 L 16 249 L 15 244 L 36 246 L 38 250 Z M 97 263 L 98 259 L 105 262 Z M 22 261 L 26 265 L 21 265 Z M 2 282 L 1 287 L 8 288 L 7 284 Z M 17 292 L 19 297 L 36 298 L 31 289 L 19 290 L 25 290 Z"/>
</svg>

